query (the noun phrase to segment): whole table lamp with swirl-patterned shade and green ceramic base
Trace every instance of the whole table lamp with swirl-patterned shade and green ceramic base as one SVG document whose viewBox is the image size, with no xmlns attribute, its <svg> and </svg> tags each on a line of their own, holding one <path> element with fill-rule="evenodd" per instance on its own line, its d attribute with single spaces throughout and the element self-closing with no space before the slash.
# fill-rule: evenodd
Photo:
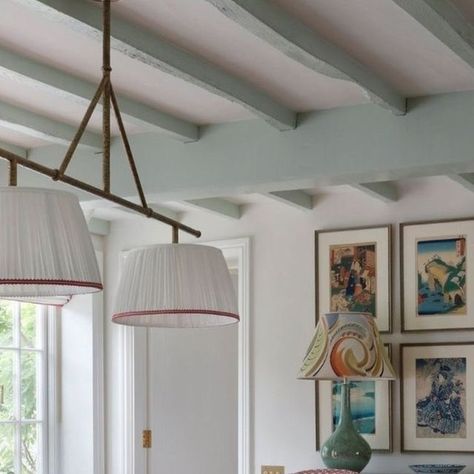
<svg viewBox="0 0 474 474">
<path fill-rule="evenodd" d="M 351 381 L 395 379 L 374 317 L 355 312 L 321 315 L 298 378 L 343 381 L 339 424 L 322 445 L 321 457 L 330 469 L 361 472 L 372 450 L 352 422 Z"/>
</svg>

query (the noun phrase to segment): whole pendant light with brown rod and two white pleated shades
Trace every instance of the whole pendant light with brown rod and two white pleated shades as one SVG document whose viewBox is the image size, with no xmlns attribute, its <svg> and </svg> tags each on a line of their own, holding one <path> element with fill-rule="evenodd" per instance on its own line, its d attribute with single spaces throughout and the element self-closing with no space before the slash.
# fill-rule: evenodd
<svg viewBox="0 0 474 474">
<path fill-rule="evenodd" d="M 172 227 L 172 244 L 137 249 L 126 258 L 115 322 L 159 327 L 236 322 L 236 297 L 222 252 L 212 247 L 178 244 L 180 230 L 195 237 L 200 237 L 201 232 L 148 206 L 111 81 L 111 1 L 102 1 L 102 80 L 60 167 L 49 168 L 0 148 L 0 158 L 10 163 L 10 185 L 16 185 L 16 169 L 22 166 Z M 101 99 L 103 187 L 98 188 L 67 175 L 66 171 Z M 111 193 L 111 111 L 117 120 L 140 205 Z M 0 231 L 0 297 L 63 296 L 102 288 L 85 219 L 73 195 L 6 188 L 0 192 L 0 218 L 14 223 Z"/>
</svg>

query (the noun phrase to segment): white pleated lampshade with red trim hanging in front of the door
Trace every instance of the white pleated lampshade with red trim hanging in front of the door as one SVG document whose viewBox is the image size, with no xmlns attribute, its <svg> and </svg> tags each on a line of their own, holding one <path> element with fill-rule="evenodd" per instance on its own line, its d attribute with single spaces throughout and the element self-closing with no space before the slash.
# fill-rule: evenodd
<svg viewBox="0 0 474 474">
<path fill-rule="evenodd" d="M 222 252 L 192 244 L 130 251 L 121 272 L 113 320 L 168 328 L 237 322 L 237 298 Z"/>
</svg>

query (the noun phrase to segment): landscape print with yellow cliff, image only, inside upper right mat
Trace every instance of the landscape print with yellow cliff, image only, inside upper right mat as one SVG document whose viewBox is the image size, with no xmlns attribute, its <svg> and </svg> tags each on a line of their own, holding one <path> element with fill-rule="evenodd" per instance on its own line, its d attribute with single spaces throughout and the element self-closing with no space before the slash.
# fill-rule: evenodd
<svg viewBox="0 0 474 474">
<path fill-rule="evenodd" d="M 466 238 L 417 242 L 418 315 L 466 314 Z"/>
</svg>

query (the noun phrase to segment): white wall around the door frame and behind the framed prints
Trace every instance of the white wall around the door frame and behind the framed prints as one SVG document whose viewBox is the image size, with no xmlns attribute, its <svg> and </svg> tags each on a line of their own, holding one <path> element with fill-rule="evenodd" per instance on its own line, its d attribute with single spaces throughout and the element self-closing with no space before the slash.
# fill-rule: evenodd
<svg viewBox="0 0 474 474">
<path fill-rule="evenodd" d="M 251 268 L 251 402 L 253 463 L 285 465 L 287 472 L 320 466 L 315 451 L 314 385 L 296 380 L 296 374 L 314 329 L 314 231 L 371 224 L 398 224 L 412 220 L 474 215 L 474 194 L 448 178 L 412 180 L 402 186 L 403 197 L 383 204 L 358 191 L 321 196 L 312 212 L 281 204 L 250 205 L 240 221 L 203 213 L 186 215 L 187 224 L 203 231 L 201 240 L 252 237 Z M 142 244 L 169 241 L 170 230 L 146 219 L 117 222 L 107 241 L 106 311 L 110 316 L 121 250 Z M 183 237 L 183 240 L 192 240 Z M 394 333 L 385 337 L 398 344 L 416 341 L 472 340 L 470 332 L 400 335 L 398 285 L 398 229 L 394 232 Z M 118 328 L 107 324 L 107 465 L 109 474 L 120 470 L 117 433 L 119 396 L 115 387 L 118 361 L 114 346 Z M 466 474 L 474 472 L 473 455 L 401 455 L 399 442 L 399 384 L 394 407 L 394 453 L 375 454 L 367 472 L 409 472 L 415 462 L 460 462 Z M 127 473 L 129 474 L 129 473 Z"/>
</svg>

